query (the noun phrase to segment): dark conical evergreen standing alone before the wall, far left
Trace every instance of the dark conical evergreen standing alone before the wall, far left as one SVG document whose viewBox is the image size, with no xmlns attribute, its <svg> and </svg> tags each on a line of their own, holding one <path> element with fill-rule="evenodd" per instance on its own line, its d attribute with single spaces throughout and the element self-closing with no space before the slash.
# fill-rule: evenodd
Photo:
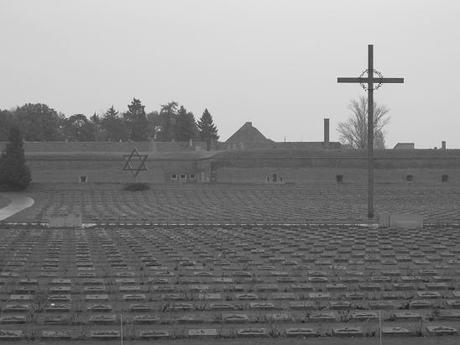
<svg viewBox="0 0 460 345">
<path fill-rule="evenodd" d="M 0 158 L 0 186 L 6 190 L 24 190 L 32 181 L 26 165 L 21 132 L 13 127 L 9 142 Z"/>
</svg>

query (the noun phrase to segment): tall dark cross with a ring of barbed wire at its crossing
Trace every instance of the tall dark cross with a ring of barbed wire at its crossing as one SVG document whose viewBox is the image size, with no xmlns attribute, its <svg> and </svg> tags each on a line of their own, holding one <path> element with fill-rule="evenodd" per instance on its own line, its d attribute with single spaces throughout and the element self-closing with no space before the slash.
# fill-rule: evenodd
<svg viewBox="0 0 460 345">
<path fill-rule="evenodd" d="M 367 191 L 367 217 L 374 218 L 374 84 L 379 87 L 385 83 L 404 83 L 404 78 L 383 78 L 377 72 L 374 77 L 374 46 L 368 45 L 367 53 L 367 77 L 358 78 L 337 78 L 338 83 L 360 83 L 366 85 L 367 89 L 367 170 L 368 170 L 368 191 Z"/>
</svg>

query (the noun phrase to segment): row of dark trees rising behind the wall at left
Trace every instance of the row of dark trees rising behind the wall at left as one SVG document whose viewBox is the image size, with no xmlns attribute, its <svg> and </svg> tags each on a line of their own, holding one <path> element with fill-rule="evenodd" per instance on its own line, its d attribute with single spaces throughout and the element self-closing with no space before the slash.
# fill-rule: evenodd
<svg viewBox="0 0 460 345">
<path fill-rule="evenodd" d="M 208 149 L 219 138 L 207 109 L 196 120 L 194 114 L 177 102 L 147 113 L 133 98 L 120 113 L 113 106 L 104 114 L 66 117 L 46 104 L 25 104 L 14 110 L 0 110 L 0 141 L 6 141 L 11 128 L 19 128 L 25 141 L 189 141 L 201 140 Z"/>
</svg>

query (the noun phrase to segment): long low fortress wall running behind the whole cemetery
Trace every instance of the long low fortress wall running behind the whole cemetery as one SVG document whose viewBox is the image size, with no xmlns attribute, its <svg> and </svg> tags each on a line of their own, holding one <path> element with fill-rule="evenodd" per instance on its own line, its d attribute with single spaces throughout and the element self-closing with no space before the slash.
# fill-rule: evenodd
<svg viewBox="0 0 460 345">
<path fill-rule="evenodd" d="M 80 176 L 87 176 L 88 183 L 126 183 L 135 179 L 122 170 L 123 154 L 131 152 L 132 146 L 125 148 L 122 153 L 27 152 L 26 159 L 33 182 L 77 184 Z M 143 151 L 142 146 L 138 149 Z M 148 170 L 140 172 L 137 181 L 173 183 L 173 174 L 185 174 L 206 182 L 266 183 L 267 176 L 277 174 L 288 183 L 335 184 L 336 176 L 343 175 L 343 183 L 365 185 L 366 154 L 344 150 L 149 153 Z M 448 183 L 460 183 L 460 150 L 376 151 L 375 168 L 376 183 L 407 183 L 407 175 L 413 175 L 413 183 L 442 183 L 442 175 L 449 176 Z"/>
</svg>

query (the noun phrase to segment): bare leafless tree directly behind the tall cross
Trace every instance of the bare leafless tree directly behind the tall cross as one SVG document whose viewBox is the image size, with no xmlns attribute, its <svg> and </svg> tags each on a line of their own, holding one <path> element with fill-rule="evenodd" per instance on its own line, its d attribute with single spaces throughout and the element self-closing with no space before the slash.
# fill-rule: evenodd
<svg viewBox="0 0 460 345">
<path fill-rule="evenodd" d="M 367 97 L 361 96 L 359 100 L 352 100 L 348 109 L 351 110 L 350 117 L 337 126 L 339 140 L 354 149 L 365 149 L 367 148 Z M 378 106 L 374 102 L 374 147 L 376 149 L 385 148 L 384 128 L 390 122 L 388 112 L 387 107 Z"/>
</svg>

